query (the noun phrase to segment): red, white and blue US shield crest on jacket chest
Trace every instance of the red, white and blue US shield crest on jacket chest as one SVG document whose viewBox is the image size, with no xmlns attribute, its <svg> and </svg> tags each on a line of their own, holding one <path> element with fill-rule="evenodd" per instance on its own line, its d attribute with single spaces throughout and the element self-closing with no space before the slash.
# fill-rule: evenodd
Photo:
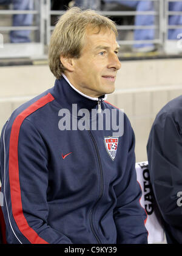
<svg viewBox="0 0 182 256">
<path fill-rule="evenodd" d="M 107 153 L 111 159 L 114 160 L 118 148 L 118 137 L 104 137 L 104 144 L 106 146 Z"/>
</svg>

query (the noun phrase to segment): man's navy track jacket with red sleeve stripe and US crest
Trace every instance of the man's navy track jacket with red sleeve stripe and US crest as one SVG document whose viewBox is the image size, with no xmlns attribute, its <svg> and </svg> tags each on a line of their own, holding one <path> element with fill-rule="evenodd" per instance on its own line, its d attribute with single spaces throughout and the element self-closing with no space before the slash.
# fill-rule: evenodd
<svg viewBox="0 0 182 256">
<path fill-rule="evenodd" d="M 7 243 L 147 243 L 129 120 L 124 114 L 113 159 L 106 144 L 112 130 L 59 129 L 60 109 L 72 112 L 73 104 L 78 111 L 98 108 L 62 77 L 16 109 L 2 129 Z"/>
</svg>

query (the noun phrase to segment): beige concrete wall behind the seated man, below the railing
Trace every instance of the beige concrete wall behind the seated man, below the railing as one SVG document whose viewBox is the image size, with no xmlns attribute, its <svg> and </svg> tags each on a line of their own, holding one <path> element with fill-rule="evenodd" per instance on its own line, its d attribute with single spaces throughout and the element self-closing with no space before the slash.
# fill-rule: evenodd
<svg viewBox="0 0 182 256">
<path fill-rule="evenodd" d="M 146 144 L 157 112 L 182 94 L 182 59 L 123 61 L 116 90 L 107 100 L 124 109 L 136 137 L 136 162 L 146 161 Z M 23 102 L 51 88 L 47 65 L 0 67 L 0 129 Z"/>
</svg>

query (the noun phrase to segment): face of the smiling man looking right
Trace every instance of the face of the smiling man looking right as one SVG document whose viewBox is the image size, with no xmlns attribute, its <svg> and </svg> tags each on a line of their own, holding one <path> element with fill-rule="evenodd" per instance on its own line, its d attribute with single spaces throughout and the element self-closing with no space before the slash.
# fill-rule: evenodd
<svg viewBox="0 0 182 256">
<path fill-rule="evenodd" d="M 66 75 L 76 89 L 90 97 L 110 94 L 115 90 L 116 72 L 121 67 L 118 60 L 118 43 L 109 29 L 86 30 L 86 41 L 81 57 L 73 58 L 73 72 Z"/>
</svg>

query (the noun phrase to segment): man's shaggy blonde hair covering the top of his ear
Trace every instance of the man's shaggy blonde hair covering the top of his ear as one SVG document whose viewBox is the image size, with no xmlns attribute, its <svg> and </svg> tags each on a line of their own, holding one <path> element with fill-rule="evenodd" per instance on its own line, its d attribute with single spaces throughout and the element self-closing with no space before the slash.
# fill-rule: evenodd
<svg viewBox="0 0 182 256">
<path fill-rule="evenodd" d="M 62 15 L 53 30 L 49 45 L 49 67 L 57 79 L 66 68 L 60 61 L 60 56 L 79 58 L 84 46 L 87 26 L 108 28 L 116 36 L 116 24 L 106 16 L 99 15 L 94 10 L 81 10 L 73 7 Z"/>
</svg>

